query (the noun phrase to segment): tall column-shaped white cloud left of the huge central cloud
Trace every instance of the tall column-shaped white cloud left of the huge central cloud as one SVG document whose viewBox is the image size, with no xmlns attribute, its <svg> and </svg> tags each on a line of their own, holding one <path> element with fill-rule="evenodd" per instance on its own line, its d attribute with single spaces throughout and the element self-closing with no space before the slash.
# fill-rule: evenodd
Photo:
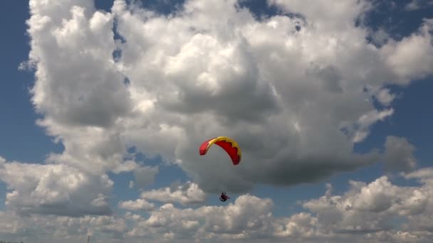
<svg viewBox="0 0 433 243">
<path fill-rule="evenodd" d="M 132 171 L 123 161 L 121 132 L 108 129 L 132 107 L 130 92 L 115 68 L 113 17 L 95 11 L 91 1 L 29 1 L 28 63 L 35 67 L 31 89 L 38 124 L 65 146 L 48 163 L 68 164 L 82 171 Z"/>
</svg>

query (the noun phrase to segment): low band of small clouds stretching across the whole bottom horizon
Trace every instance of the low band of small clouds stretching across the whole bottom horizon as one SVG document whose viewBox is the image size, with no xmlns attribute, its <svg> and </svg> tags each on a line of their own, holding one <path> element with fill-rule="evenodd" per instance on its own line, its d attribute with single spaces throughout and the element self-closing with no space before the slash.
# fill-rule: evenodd
<svg viewBox="0 0 433 243">
<path fill-rule="evenodd" d="M 152 242 L 429 242 L 433 237 L 433 169 L 405 173 L 403 178 L 416 180 L 416 185 L 397 185 L 387 176 L 381 176 L 371 182 L 350 180 L 347 191 L 334 194 L 332 185 L 328 184 L 324 195 L 300 202 L 303 209 L 287 217 L 273 215 L 273 200 L 246 194 L 224 205 L 178 208 L 167 203 L 146 214 L 22 217 L 14 212 L 0 212 L 1 218 L 13 222 L 0 222 L 0 232 L 6 232 L 6 237 L 12 233 L 14 237 L 41 240 L 48 234 L 53 236 L 51 240 L 58 239 L 57 242 L 83 239 L 87 234 L 94 235 L 95 239 L 108 234 L 103 239 L 109 243 L 136 239 Z M 145 205 L 143 202 L 145 200 L 138 199 L 124 205 L 135 207 Z"/>
</svg>

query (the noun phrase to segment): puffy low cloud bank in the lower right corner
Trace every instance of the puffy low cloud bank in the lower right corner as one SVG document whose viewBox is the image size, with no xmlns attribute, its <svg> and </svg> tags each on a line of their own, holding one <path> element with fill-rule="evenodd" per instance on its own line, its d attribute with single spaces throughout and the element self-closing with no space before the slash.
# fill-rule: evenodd
<svg viewBox="0 0 433 243">
<path fill-rule="evenodd" d="M 426 179 L 432 177 L 430 172 L 430 169 L 422 169 L 405 175 L 406 178 L 423 178 L 419 186 L 392 185 L 386 176 L 369 184 L 350 181 L 351 188 L 343 195 L 324 195 L 304 202 L 303 207 L 315 213 L 323 231 L 362 233 L 360 235 L 366 239 L 382 241 L 427 242 L 432 237 L 427 225 L 412 224 L 431 217 L 427 216 L 432 214 L 429 209 L 431 181 Z"/>
</svg>

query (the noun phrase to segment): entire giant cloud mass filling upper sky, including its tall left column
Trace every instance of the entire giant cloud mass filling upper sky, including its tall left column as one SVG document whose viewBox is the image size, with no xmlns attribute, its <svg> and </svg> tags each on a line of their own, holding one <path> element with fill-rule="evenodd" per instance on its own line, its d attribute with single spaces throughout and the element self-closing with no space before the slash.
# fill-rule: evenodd
<svg viewBox="0 0 433 243">
<path fill-rule="evenodd" d="M 31 1 L 32 101 L 38 124 L 65 146 L 47 162 L 98 175 L 134 171 L 140 166 L 124 158 L 135 146 L 180 166 L 206 192 L 246 192 L 380 160 L 353 146 L 392 116 L 385 85 L 432 74 L 431 20 L 376 47 L 365 41 L 371 31 L 355 26 L 369 1 L 270 4 L 299 14 L 258 19 L 235 0 L 186 1 L 169 16 L 122 0 L 111 13 Z M 221 135 L 243 149 L 236 168 L 217 148 L 197 153 Z M 143 185 L 150 174 L 138 176 L 150 178 Z"/>
</svg>

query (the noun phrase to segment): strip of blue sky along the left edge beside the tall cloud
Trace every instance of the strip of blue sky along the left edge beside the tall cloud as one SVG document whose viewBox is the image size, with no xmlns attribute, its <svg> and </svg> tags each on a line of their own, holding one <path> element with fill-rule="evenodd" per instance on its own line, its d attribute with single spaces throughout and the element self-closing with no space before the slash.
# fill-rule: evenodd
<svg viewBox="0 0 433 243">
<path fill-rule="evenodd" d="M 9 30 L 8 37 L 1 40 L 4 53 L 1 65 L 7 72 L 1 89 L 1 154 L 10 160 L 38 163 L 43 161 L 46 153 L 58 151 L 58 148 L 43 129 L 35 124 L 38 116 L 28 94 L 28 88 L 33 84 L 33 75 L 18 70 L 19 63 L 28 58 L 30 50 L 26 36 L 28 3 L 21 1 L 6 5 L 13 10 L 1 16 L 2 28 Z M 22 139 L 24 137 L 27 139 Z"/>
</svg>

